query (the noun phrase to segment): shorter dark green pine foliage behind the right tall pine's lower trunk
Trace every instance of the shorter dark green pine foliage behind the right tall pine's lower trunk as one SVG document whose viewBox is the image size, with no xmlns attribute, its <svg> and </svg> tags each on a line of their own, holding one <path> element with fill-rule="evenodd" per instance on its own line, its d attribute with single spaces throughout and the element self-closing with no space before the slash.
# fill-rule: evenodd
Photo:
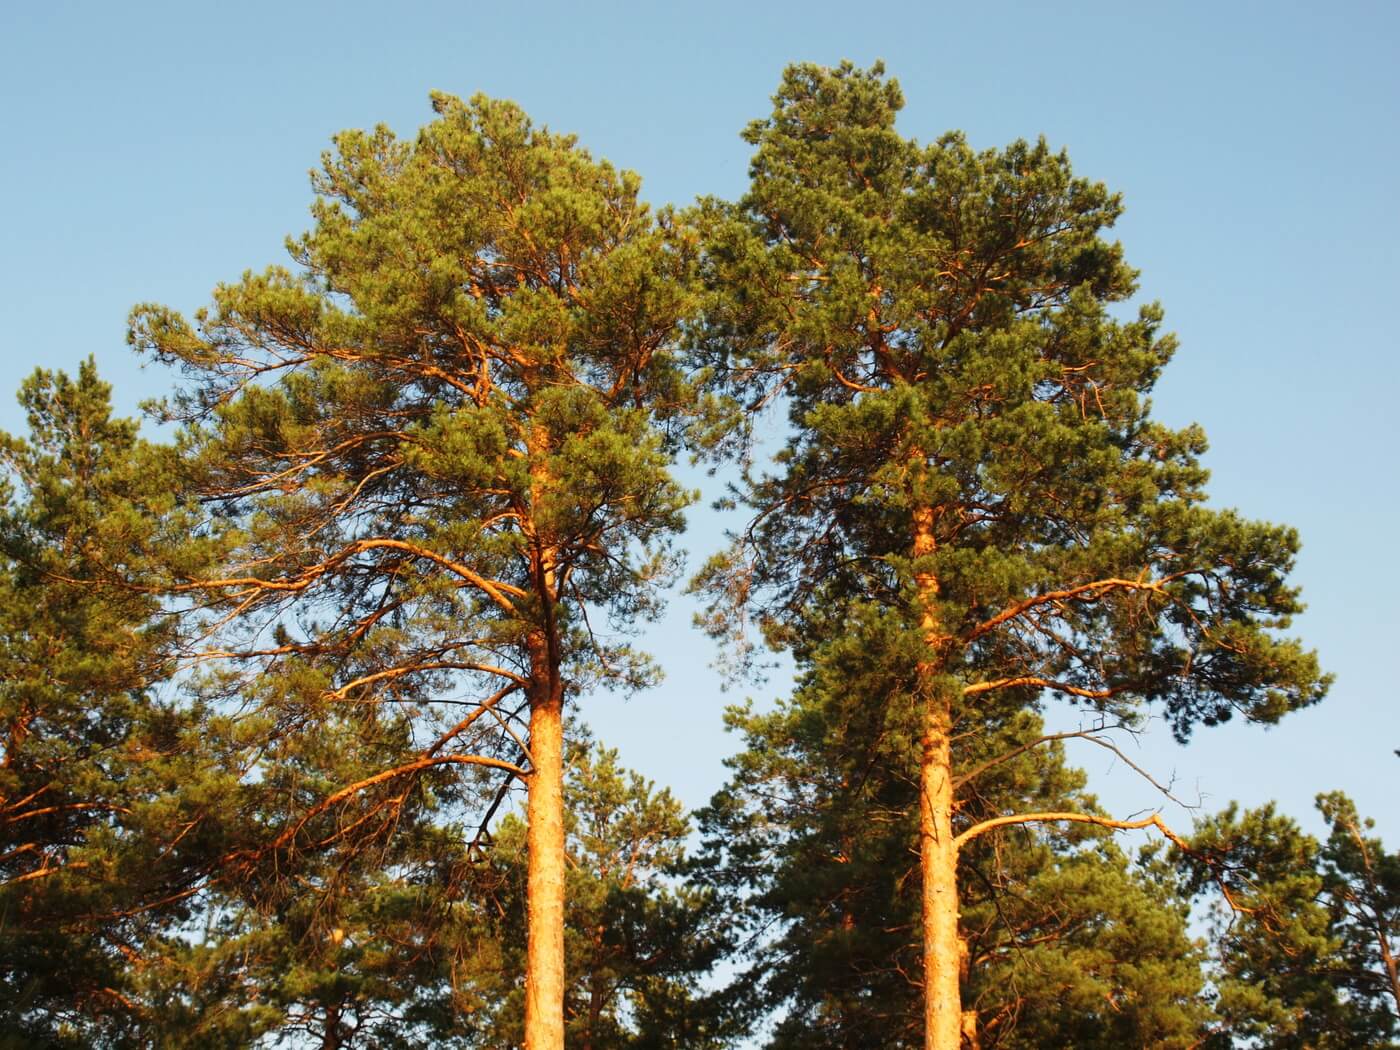
<svg viewBox="0 0 1400 1050">
<path fill-rule="evenodd" d="M 923 1046 L 918 706 L 883 690 L 858 640 L 804 675 L 776 711 L 732 708 L 745 749 L 701 812 L 704 876 L 742 923 L 735 990 L 777 1018 L 766 1046 Z M 893 710 L 892 710 L 893 708 Z M 959 791 L 965 820 L 1102 813 L 1063 743 L 1007 713 L 962 752 L 997 762 Z M 1187 1047 L 1212 1016 L 1189 900 L 1159 861 L 1106 832 L 1019 826 L 959 865 L 963 994 L 981 1047 Z"/>
</svg>

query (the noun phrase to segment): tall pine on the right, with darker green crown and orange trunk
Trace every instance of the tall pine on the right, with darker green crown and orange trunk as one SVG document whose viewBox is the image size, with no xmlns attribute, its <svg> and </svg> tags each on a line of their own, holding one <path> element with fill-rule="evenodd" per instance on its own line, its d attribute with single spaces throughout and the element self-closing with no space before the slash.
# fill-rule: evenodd
<svg viewBox="0 0 1400 1050">
<path fill-rule="evenodd" d="M 882 74 L 788 69 L 745 133 L 748 195 L 700 210 L 697 360 L 742 406 L 781 398 L 791 423 L 778 472 L 741 486 L 752 525 L 701 585 L 713 627 L 756 610 L 778 645 L 878 624 L 869 661 L 921 706 L 921 1025 L 953 1050 L 979 1025 L 959 855 L 1014 825 L 1119 826 L 970 820 L 959 742 L 988 708 L 1156 708 L 1184 739 L 1236 714 L 1273 722 L 1326 679 L 1277 634 L 1299 609 L 1295 533 L 1207 508 L 1204 435 L 1148 414 L 1173 340 L 1155 305 L 1114 312 L 1135 279 L 1102 237 L 1119 199 L 1043 141 L 904 139 Z"/>
</svg>

